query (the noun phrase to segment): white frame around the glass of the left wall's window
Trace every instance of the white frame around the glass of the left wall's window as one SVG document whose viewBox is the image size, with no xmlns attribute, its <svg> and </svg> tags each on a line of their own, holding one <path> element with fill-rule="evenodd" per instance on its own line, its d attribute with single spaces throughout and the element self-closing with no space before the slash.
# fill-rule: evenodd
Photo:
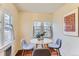
<svg viewBox="0 0 79 59">
<path fill-rule="evenodd" d="M 7 24 L 9 27 L 7 27 L 9 29 L 9 31 L 12 30 L 12 15 L 11 13 L 8 11 L 8 10 L 3 10 L 2 11 L 2 14 L 1 14 L 1 21 L 2 21 L 2 29 L 1 29 L 1 34 L 2 34 L 2 39 L 1 39 L 1 45 L 5 45 L 6 43 L 9 43 L 11 41 L 9 40 L 6 40 L 5 41 L 5 38 L 4 38 L 4 31 L 5 31 L 5 20 L 4 20 L 4 14 L 7 14 L 9 17 L 10 17 L 10 20 L 9 22 L 11 22 L 11 24 Z M 12 34 L 12 31 L 11 31 L 11 34 Z M 13 38 L 13 34 L 11 35 L 11 38 Z"/>
</svg>

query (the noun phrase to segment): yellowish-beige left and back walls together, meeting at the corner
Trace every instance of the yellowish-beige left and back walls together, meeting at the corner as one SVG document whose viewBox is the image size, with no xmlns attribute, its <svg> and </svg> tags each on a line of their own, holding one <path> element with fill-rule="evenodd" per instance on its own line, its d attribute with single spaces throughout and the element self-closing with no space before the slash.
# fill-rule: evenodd
<svg viewBox="0 0 79 59">
<path fill-rule="evenodd" d="M 13 17 L 15 40 L 12 46 L 12 55 L 21 49 L 21 39 L 25 38 L 29 43 L 32 39 L 32 25 L 38 17 L 39 21 L 52 21 L 51 14 L 19 12 L 13 4 L 0 4 L 0 11 L 8 10 Z"/>
</svg>

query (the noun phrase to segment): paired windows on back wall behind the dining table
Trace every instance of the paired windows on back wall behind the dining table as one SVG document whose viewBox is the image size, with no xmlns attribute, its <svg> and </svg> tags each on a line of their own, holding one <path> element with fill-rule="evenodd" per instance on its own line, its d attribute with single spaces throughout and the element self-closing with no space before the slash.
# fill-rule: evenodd
<svg viewBox="0 0 79 59">
<path fill-rule="evenodd" d="M 44 38 L 51 38 L 51 24 L 49 22 L 39 22 L 35 21 L 33 24 L 33 37 L 36 38 L 36 35 L 41 32 L 46 32 Z"/>
</svg>

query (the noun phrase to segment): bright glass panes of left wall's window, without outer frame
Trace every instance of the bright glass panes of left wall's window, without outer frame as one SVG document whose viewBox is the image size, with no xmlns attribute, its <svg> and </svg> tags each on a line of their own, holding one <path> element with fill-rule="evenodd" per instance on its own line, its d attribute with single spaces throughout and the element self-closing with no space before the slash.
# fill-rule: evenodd
<svg viewBox="0 0 79 59">
<path fill-rule="evenodd" d="M 3 42 L 6 43 L 12 40 L 12 19 L 9 14 L 4 14 L 4 40 Z M 7 38 L 7 39 L 6 39 Z"/>
</svg>

